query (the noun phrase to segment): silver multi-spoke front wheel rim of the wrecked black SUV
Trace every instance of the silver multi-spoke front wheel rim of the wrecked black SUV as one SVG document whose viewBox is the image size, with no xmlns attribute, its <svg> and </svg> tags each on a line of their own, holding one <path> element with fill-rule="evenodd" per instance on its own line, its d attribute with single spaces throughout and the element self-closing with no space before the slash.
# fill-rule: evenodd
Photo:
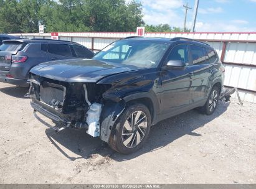
<svg viewBox="0 0 256 189">
<path fill-rule="evenodd" d="M 148 127 L 148 118 L 143 111 L 135 111 L 126 119 L 122 129 L 122 141 L 128 148 L 136 147 L 143 140 Z"/>
</svg>

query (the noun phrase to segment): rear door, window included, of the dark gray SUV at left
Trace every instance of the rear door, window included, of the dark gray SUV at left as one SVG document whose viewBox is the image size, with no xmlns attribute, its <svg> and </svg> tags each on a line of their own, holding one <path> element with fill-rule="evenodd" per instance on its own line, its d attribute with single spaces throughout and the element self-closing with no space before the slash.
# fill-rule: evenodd
<svg viewBox="0 0 256 189">
<path fill-rule="evenodd" d="M 50 61 L 74 58 L 67 44 L 48 44 L 47 49 Z"/>
</svg>

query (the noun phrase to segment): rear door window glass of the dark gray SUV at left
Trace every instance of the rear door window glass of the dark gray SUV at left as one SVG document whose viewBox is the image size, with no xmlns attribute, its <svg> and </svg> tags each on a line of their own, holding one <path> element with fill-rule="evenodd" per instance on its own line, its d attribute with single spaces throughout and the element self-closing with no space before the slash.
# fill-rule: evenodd
<svg viewBox="0 0 256 189">
<path fill-rule="evenodd" d="M 55 55 L 62 55 L 65 57 L 72 57 L 69 45 L 66 44 L 48 44 L 48 52 Z"/>
</svg>

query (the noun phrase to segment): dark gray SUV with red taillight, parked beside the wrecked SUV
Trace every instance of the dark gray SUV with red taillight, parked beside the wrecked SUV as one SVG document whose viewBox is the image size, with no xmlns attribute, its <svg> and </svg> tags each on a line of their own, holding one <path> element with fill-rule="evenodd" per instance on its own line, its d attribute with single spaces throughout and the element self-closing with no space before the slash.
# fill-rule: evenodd
<svg viewBox="0 0 256 189">
<path fill-rule="evenodd" d="M 4 40 L 0 46 L 0 81 L 27 87 L 29 71 L 42 62 L 92 58 L 94 53 L 75 42 L 50 39 Z"/>
</svg>

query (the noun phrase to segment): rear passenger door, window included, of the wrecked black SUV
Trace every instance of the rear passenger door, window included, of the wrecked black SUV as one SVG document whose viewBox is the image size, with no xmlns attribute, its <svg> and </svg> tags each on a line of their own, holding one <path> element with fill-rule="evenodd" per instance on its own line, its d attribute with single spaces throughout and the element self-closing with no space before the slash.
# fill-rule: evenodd
<svg viewBox="0 0 256 189">
<path fill-rule="evenodd" d="M 199 45 L 189 45 L 192 56 L 192 102 L 199 103 L 207 97 L 210 88 L 212 64 L 209 63 L 206 48 Z"/>
</svg>

